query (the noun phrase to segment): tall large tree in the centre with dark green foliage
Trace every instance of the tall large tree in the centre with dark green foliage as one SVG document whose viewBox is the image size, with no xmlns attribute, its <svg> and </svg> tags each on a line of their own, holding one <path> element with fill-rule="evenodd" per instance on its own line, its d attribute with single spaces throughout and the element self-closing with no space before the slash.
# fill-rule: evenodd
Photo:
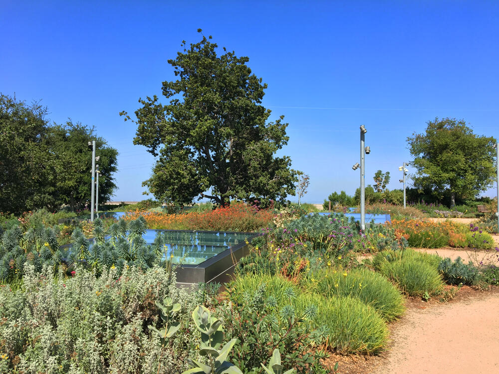
<svg viewBox="0 0 499 374">
<path fill-rule="evenodd" d="M 139 99 L 134 144 L 159 156 L 143 185 L 157 199 L 180 204 L 196 197 L 219 204 L 284 200 L 295 193 L 296 175 L 289 157 L 275 153 L 287 144 L 288 124 L 283 116 L 267 122 L 270 110 L 261 105 L 267 85 L 251 72 L 249 58 L 225 48 L 217 55 L 211 38 L 183 41 L 183 51 L 168 60 L 178 77 L 163 82 L 169 104 L 156 95 Z"/>
</svg>

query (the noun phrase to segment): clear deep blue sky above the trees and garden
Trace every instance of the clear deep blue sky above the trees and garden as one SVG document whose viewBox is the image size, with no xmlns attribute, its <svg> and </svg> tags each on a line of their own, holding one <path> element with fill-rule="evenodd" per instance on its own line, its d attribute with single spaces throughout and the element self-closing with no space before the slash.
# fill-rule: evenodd
<svg viewBox="0 0 499 374">
<path fill-rule="evenodd" d="M 56 123 L 95 126 L 120 153 L 114 200 L 145 198 L 154 164 L 118 113 L 161 95 L 167 60 L 198 28 L 268 84 L 263 105 L 289 123 L 282 154 L 310 175 L 305 201 L 354 193 L 361 124 L 366 183 L 382 169 L 389 188 L 428 120 L 499 137 L 498 1 L 0 0 L 0 27 L 0 92 L 41 100 Z"/>
</svg>

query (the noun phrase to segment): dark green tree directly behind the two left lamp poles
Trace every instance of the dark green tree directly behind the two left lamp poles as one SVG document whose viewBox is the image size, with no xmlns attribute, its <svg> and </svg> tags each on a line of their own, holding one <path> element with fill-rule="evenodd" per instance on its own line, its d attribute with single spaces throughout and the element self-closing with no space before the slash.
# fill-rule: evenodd
<svg viewBox="0 0 499 374">
<path fill-rule="evenodd" d="M 99 161 L 99 201 L 109 200 L 116 185 L 113 174 L 117 171 L 118 151 L 95 134 L 93 127 L 73 124 L 55 125 L 50 128 L 50 147 L 56 162 L 56 190 L 63 204 L 72 210 L 90 203 L 92 181 L 92 152 L 88 142 L 95 140 L 96 157 Z"/>
</svg>

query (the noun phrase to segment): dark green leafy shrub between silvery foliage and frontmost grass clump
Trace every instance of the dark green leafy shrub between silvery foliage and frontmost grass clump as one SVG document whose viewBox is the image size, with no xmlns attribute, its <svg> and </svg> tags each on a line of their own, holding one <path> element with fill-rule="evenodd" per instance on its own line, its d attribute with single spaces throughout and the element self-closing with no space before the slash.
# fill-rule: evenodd
<svg viewBox="0 0 499 374">
<path fill-rule="evenodd" d="M 279 282 L 279 281 L 277 281 Z M 268 295 L 264 284 L 248 292 L 244 304 L 224 303 L 220 307 L 226 340 L 237 338 L 232 362 L 244 373 L 263 373 L 260 363 L 268 360 L 276 348 L 284 354 L 282 365 L 298 373 L 324 373 L 320 370 L 322 350 L 317 345 L 325 341 L 323 329 L 315 329 L 305 317 L 315 316 L 316 307 L 295 311 L 284 297 L 278 306 L 275 297 Z M 315 371 L 314 369 L 319 369 Z"/>
</svg>

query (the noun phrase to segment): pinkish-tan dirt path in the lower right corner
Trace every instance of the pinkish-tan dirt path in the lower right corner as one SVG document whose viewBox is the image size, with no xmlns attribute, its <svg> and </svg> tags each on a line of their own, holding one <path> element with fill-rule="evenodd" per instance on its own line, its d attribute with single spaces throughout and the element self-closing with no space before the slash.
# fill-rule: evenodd
<svg viewBox="0 0 499 374">
<path fill-rule="evenodd" d="M 373 374 L 499 373 L 499 295 L 410 309 Z"/>
</svg>

